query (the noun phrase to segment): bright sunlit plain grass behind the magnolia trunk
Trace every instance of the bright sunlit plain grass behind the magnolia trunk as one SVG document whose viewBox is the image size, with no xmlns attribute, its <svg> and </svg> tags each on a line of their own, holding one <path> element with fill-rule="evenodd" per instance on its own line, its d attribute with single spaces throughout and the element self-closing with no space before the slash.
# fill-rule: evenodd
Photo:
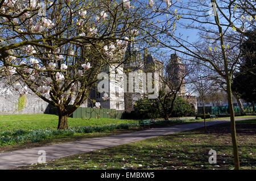
<svg viewBox="0 0 256 181">
<path fill-rule="evenodd" d="M 121 123 L 137 123 L 138 120 L 123 120 L 123 119 L 80 119 L 68 118 L 68 127 L 80 126 L 103 126 L 109 124 Z M 58 125 L 58 116 L 48 114 L 33 114 L 33 115 L 0 115 L 0 133 L 4 131 L 15 131 L 23 129 L 31 131 L 34 129 L 56 129 Z"/>
</svg>

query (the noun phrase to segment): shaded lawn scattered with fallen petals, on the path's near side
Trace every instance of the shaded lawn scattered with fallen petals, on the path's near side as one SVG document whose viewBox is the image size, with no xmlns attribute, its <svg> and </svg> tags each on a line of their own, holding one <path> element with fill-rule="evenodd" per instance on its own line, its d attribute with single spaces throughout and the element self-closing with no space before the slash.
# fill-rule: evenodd
<svg viewBox="0 0 256 181">
<path fill-rule="evenodd" d="M 237 121 L 241 169 L 256 166 L 256 119 Z M 217 151 L 210 165 L 208 151 Z M 233 169 L 230 124 L 219 124 L 17 169 Z"/>
</svg>

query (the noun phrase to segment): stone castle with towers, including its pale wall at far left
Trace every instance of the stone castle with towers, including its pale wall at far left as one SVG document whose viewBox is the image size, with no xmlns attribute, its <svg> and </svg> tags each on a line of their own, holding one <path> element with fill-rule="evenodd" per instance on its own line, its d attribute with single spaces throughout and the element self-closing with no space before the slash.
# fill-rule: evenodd
<svg viewBox="0 0 256 181">
<path fill-rule="evenodd" d="M 171 54 L 170 61 L 166 68 L 167 75 L 175 75 L 172 76 L 172 86 L 177 86 L 177 82 L 183 81 L 178 96 L 188 100 L 195 110 L 197 110 L 196 98 L 194 98 L 194 96 L 185 95 L 184 79 L 179 79 L 180 75 L 183 75 L 184 67 L 176 53 Z M 148 96 L 146 94 L 147 90 L 142 89 L 143 86 L 147 87 L 148 82 L 146 82 L 146 78 L 148 79 L 148 75 L 151 76 L 152 74 L 151 78 L 155 79 L 154 73 L 158 73 L 160 77 L 164 74 L 163 62 L 156 60 L 156 58 L 148 53 L 147 49 L 144 49 L 142 56 L 141 52 L 138 51 L 138 48 L 136 48 L 134 44 L 128 44 L 125 63 L 123 65 L 108 66 L 107 69 L 108 83 L 105 86 L 108 86 L 108 100 L 102 100 L 104 92 L 99 92 L 97 87 L 94 87 L 94 89 L 90 90 L 88 99 L 81 107 L 94 107 L 96 101 L 101 103 L 101 108 L 132 111 L 134 103 L 138 99 Z M 131 73 L 137 76 L 130 77 Z M 147 75 L 147 77 L 144 77 L 144 75 Z M 154 89 L 160 86 L 162 86 L 161 82 L 159 85 L 153 84 Z M 1 82 L 0 87 L 0 113 L 49 113 L 48 103 L 44 102 L 36 95 L 27 96 L 26 106 L 22 111 L 17 111 L 18 92 L 8 89 Z"/>
</svg>

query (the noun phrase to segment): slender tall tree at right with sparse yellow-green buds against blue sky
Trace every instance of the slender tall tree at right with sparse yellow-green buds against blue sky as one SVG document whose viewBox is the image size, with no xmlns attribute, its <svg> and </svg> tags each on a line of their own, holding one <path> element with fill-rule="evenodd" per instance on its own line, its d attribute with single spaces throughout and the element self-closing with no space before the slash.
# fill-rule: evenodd
<svg viewBox="0 0 256 181">
<path fill-rule="evenodd" d="M 211 0 L 210 2 L 195 0 L 180 1 L 179 4 L 176 3 L 176 5 L 172 6 L 168 12 L 170 20 L 172 17 L 176 18 L 172 28 L 162 26 L 161 32 L 166 36 L 162 35 L 162 37 L 157 39 L 159 44 L 165 48 L 170 48 L 177 52 L 187 54 L 188 57 L 208 62 L 206 66 L 225 79 L 235 169 L 240 169 L 240 161 L 231 83 L 233 73 L 239 65 L 241 57 L 240 47 L 245 40 L 245 33 L 243 32 L 249 30 L 255 24 L 253 16 L 247 16 L 245 18 L 248 13 L 246 9 L 237 9 L 237 6 L 241 5 L 240 3 L 244 6 L 245 3 L 249 4 L 250 1 L 246 1 L 245 3 L 226 0 Z M 252 11 L 254 14 L 254 9 Z M 198 44 L 191 41 L 187 36 L 183 36 L 182 33 L 171 33 L 177 31 L 179 24 L 181 24 L 181 27 L 187 28 L 187 31 L 193 30 L 199 32 L 201 46 L 198 46 Z M 229 44 L 230 40 L 234 44 L 232 47 Z M 210 53 L 207 53 L 207 51 Z M 233 54 L 236 54 L 236 56 Z"/>
</svg>

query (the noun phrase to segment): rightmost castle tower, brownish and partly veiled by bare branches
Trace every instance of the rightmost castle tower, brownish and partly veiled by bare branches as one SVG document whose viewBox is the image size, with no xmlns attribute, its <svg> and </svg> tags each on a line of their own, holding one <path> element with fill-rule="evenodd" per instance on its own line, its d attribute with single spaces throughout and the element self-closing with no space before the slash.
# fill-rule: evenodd
<svg viewBox="0 0 256 181">
<path fill-rule="evenodd" d="M 176 52 L 174 54 L 171 54 L 171 59 L 169 60 L 168 65 L 166 66 L 166 73 L 168 82 L 172 89 L 179 89 L 180 83 L 180 90 L 179 90 L 179 96 L 185 95 L 185 79 L 184 79 L 184 73 L 185 73 L 185 67 L 184 64 L 182 64 L 180 57 L 177 56 Z"/>
</svg>

